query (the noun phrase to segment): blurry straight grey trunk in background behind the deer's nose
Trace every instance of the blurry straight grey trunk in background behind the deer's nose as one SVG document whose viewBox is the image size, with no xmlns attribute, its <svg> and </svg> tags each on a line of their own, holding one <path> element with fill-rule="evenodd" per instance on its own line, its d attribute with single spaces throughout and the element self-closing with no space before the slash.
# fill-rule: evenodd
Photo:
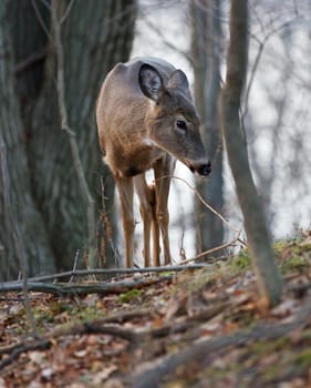
<svg viewBox="0 0 311 388">
<path fill-rule="evenodd" d="M 199 193 L 221 212 L 222 141 L 219 129 L 217 101 L 220 91 L 220 6 L 218 0 L 199 0 L 191 4 L 193 59 L 195 70 L 195 100 L 201 119 L 203 139 L 211 160 L 208 182 L 197 180 Z M 196 202 L 197 249 L 210 249 L 222 243 L 224 224 L 214 213 Z"/>
</svg>

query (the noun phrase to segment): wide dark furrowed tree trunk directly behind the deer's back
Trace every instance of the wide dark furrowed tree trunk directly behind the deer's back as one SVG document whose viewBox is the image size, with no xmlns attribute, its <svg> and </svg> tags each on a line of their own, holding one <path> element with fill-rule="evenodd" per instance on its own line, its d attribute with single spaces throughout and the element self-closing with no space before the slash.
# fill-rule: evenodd
<svg viewBox="0 0 311 388">
<path fill-rule="evenodd" d="M 59 4 L 64 9 L 66 2 Z M 84 173 L 97 204 L 100 175 L 106 175 L 107 170 L 101 167 L 95 101 L 107 71 L 128 58 L 134 10 L 132 1 L 80 1 L 62 27 L 69 122 L 76 134 Z M 86 204 L 69 139 L 61 131 L 54 79 L 55 54 L 50 48 L 43 90 L 34 109 L 29 161 L 34 197 L 44 214 L 58 267 L 70 268 L 75 251 L 87 244 Z M 110 191 L 106 188 L 106 195 L 113 200 L 112 185 Z"/>
</svg>

